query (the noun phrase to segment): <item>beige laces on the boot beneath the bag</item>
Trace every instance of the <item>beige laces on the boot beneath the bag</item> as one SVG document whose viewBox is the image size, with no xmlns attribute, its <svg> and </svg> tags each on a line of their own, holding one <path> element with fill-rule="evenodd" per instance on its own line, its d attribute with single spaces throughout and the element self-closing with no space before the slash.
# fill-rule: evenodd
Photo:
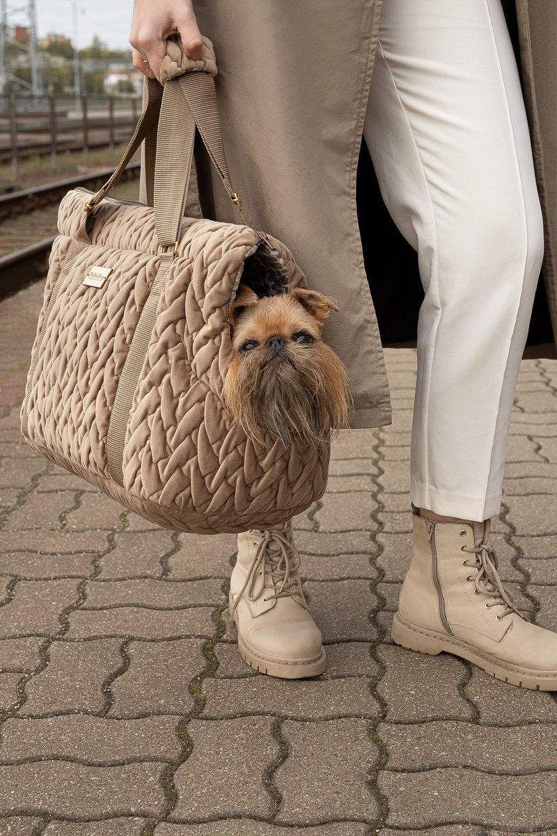
<svg viewBox="0 0 557 836">
<path fill-rule="evenodd" d="M 286 537 L 284 533 L 276 530 L 258 531 L 262 534 L 261 543 L 257 546 L 256 556 L 251 563 L 250 571 L 247 574 L 244 585 L 240 590 L 240 594 L 232 604 L 230 615 L 233 616 L 235 609 L 238 606 L 242 596 L 246 596 L 251 601 L 259 598 L 254 590 L 256 588 L 256 581 L 258 574 L 263 574 L 265 583 L 268 579 L 271 580 L 272 589 L 276 591 L 265 596 L 266 600 L 272 598 L 286 598 L 287 595 L 295 595 L 298 593 L 299 579 L 297 578 L 297 570 L 300 568 L 301 558 L 296 547 Z M 300 601 L 305 609 L 307 605 Z"/>
</svg>

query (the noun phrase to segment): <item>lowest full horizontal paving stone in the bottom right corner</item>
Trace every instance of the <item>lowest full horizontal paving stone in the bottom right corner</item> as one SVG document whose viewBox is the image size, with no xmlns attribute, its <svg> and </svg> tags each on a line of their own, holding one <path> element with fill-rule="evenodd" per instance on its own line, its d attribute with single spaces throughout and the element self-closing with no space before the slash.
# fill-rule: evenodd
<svg viewBox="0 0 557 836">
<path fill-rule="evenodd" d="M 389 799 L 393 827 L 429 827 L 443 820 L 492 827 L 540 828 L 557 825 L 557 772 L 521 776 L 459 769 L 391 772 L 378 777 Z"/>
</svg>

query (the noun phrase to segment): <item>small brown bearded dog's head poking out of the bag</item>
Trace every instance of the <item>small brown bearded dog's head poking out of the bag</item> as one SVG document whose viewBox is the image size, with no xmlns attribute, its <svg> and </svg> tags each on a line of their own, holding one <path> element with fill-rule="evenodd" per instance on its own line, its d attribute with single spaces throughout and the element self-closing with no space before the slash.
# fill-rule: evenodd
<svg viewBox="0 0 557 836">
<path fill-rule="evenodd" d="M 232 349 L 223 397 L 251 441 L 319 445 L 349 426 L 346 367 L 322 341 L 338 306 L 315 290 L 258 297 L 241 284 L 230 308 Z"/>
</svg>

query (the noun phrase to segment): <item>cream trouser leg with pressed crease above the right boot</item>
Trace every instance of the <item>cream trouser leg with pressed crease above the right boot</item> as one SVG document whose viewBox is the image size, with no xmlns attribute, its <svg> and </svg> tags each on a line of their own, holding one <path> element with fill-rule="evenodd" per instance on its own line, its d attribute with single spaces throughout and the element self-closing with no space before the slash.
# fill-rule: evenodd
<svg viewBox="0 0 557 836">
<path fill-rule="evenodd" d="M 425 292 L 411 498 L 484 520 L 500 510 L 544 247 L 499 0 L 383 0 L 364 138 Z"/>
</svg>

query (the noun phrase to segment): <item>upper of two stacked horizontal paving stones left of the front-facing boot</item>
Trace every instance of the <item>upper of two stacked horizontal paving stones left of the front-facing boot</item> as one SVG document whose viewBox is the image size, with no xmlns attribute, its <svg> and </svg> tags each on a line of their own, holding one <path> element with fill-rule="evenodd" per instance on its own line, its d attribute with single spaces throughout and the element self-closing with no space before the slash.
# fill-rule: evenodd
<svg viewBox="0 0 557 836">
<path fill-rule="evenodd" d="M 130 579 L 92 581 L 82 609 L 136 604 L 139 607 L 177 609 L 194 604 L 218 604 L 222 598 L 220 579 L 168 581 Z"/>
</svg>

